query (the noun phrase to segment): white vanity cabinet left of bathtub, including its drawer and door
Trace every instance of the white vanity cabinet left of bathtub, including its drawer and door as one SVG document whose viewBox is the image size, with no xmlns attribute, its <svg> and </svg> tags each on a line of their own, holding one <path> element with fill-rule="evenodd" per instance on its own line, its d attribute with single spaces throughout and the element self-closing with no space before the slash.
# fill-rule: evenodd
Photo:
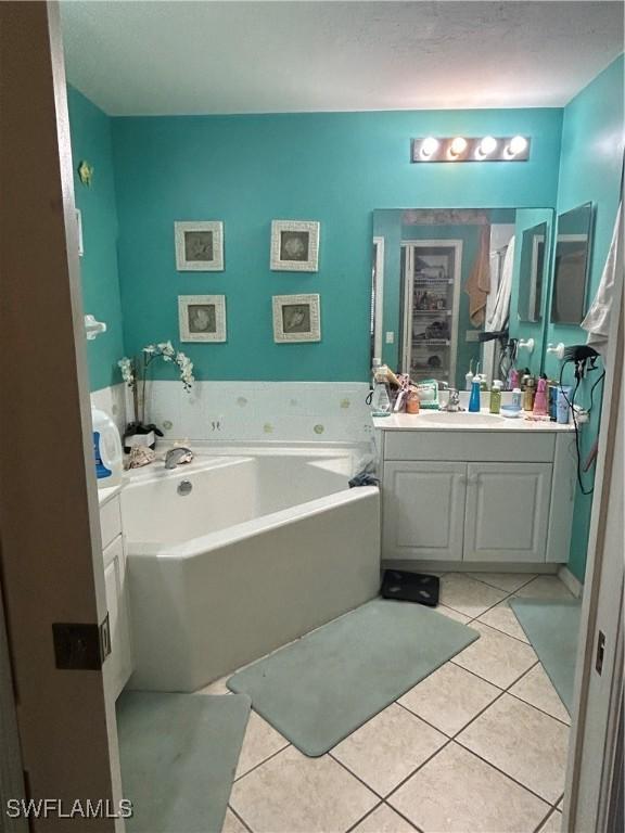
<svg viewBox="0 0 625 833">
<path fill-rule="evenodd" d="M 111 633 L 111 654 L 104 663 L 103 674 L 110 693 L 117 699 L 132 672 L 126 553 L 122 536 L 119 495 L 114 495 L 101 502 L 100 529 Z"/>
</svg>

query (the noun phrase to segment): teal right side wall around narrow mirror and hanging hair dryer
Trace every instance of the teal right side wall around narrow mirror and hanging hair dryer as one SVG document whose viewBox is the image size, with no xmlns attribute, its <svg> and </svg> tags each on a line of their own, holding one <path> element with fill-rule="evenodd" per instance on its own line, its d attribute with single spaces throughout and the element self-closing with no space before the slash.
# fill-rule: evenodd
<svg viewBox="0 0 625 833">
<path fill-rule="evenodd" d="M 595 234 L 590 268 L 588 305 L 590 305 L 605 264 L 620 200 L 623 165 L 623 55 L 604 69 L 564 108 L 558 213 L 582 203 L 595 204 Z M 585 344 L 587 333 L 579 326 L 549 324 L 547 341 L 566 345 Z M 546 372 L 559 374 L 559 363 L 546 357 Z M 588 405 L 589 387 L 597 374 L 583 383 L 578 401 Z M 566 381 L 570 381 L 566 380 Z M 584 427 L 582 457 L 585 459 L 599 430 L 600 407 L 595 408 L 590 424 Z M 591 475 L 585 475 L 587 487 Z M 571 544 L 570 568 L 579 578 L 586 569 L 586 549 L 590 524 L 591 496 L 579 489 L 575 499 L 575 521 Z"/>
</svg>

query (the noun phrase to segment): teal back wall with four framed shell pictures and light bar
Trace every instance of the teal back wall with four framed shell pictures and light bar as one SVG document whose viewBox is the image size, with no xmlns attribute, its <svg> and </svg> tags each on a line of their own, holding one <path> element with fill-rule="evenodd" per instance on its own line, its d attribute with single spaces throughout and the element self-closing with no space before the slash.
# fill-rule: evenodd
<svg viewBox="0 0 625 833">
<path fill-rule="evenodd" d="M 113 119 L 128 351 L 177 342 L 177 296 L 224 293 L 227 344 L 186 345 L 199 379 L 369 379 L 372 210 L 554 205 L 560 110 Z M 527 163 L 411 165 L 420 134 L 532 136 Z M 271 219 L 321 222 L 319 272 L 269 269 Z M 177 272 L 174 221 L 221 219 L 226 270 Z M 277 345 L 271 295 L 321 295 L 320 344 Z M 166 368 L 160 369 L 166 372 Z"/>
</svg>

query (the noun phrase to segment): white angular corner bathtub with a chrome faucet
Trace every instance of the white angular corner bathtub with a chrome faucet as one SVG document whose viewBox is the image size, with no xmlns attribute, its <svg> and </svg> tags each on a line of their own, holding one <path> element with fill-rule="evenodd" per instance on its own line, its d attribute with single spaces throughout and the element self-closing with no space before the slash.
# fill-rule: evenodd
<svg viewBox="0 0 625 833">
<path fill-rule="evenodd" d="M 348 488 L 352 454 L 156 465 L 122 492 L 131 688 L 194 691 L 375 595 L 379 492 Z"/>
</svg>

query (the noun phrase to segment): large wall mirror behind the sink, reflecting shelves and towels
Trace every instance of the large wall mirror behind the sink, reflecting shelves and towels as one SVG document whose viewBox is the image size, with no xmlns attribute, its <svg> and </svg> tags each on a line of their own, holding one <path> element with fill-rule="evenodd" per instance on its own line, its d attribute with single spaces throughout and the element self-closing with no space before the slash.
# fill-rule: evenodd
<svg viewBox="0 0 625 833">
<path fill-rule="evenodd" d="M 458 388 L 477 364 L 500 377 L 509 338 L 540 362 L 552 225 L 551 208 L 375 210 L 371 357 Z"/>
</svg>

